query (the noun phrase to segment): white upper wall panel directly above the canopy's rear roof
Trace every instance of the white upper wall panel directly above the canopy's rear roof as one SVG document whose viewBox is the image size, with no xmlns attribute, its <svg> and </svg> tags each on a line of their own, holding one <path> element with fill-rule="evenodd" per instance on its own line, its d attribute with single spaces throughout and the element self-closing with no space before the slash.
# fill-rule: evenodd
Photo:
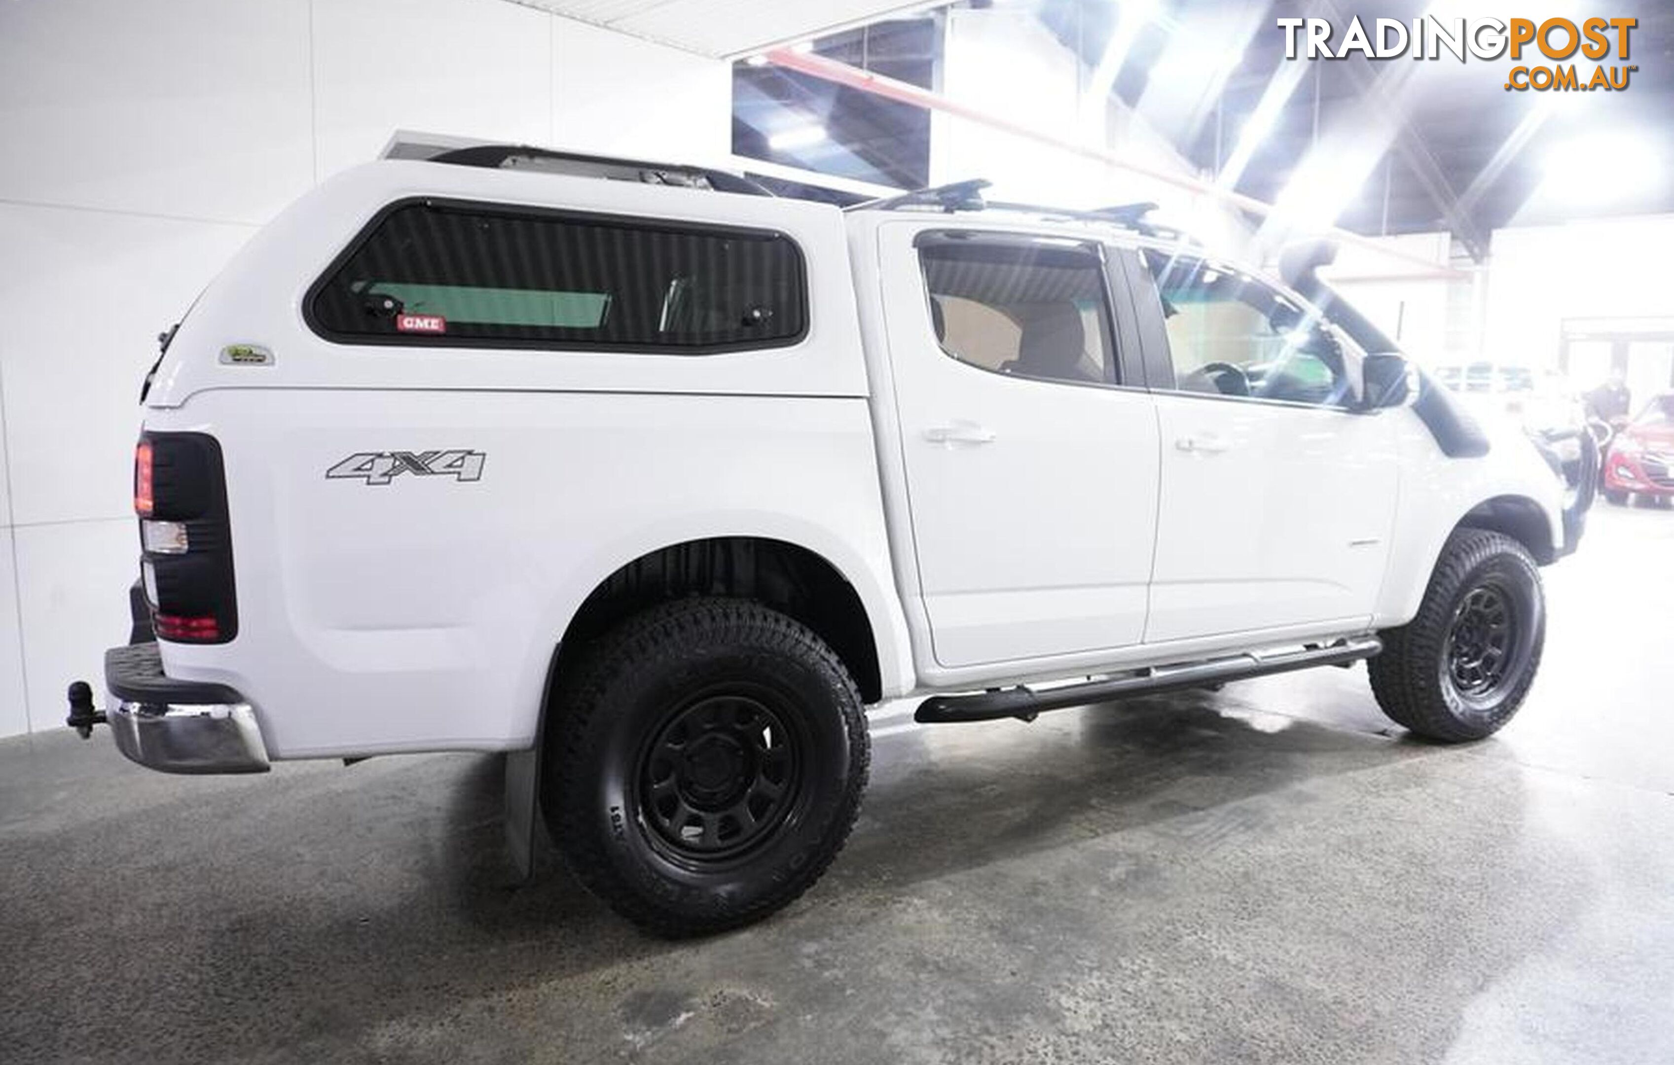
<svg viewBox="0 0 1674 1065">
<path fill-rule="evenodd" d="M 316 3 L 318 176 L 377 159 L 397 129 L 547 142 L 549 23 L 484 0 Z"/>
</svg>

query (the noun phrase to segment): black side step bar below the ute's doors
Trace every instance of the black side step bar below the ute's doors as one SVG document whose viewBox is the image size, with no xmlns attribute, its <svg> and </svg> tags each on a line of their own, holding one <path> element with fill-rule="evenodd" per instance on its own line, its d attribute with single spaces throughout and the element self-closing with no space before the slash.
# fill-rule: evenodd
<svg viewBox="0 0 1674 1065">
<path fill-rule="evenodd" d="M 932 695 L 919 703 L 919 710 L 912 715 L 912 720 L 924 723 L 993 722 L 1004 717 L 1033 720 L 1043 710 L 1081 707 L 1085 703 L 1132 695 L 1200 688 L 1229 680 L 1289 673 L 1291 670 L 1306 670 L 1319 665 L 1346 666 L 1361 658 L 1371 658 L 1381 650 L 1383 641 L 1376 636 L 1354 636 L 1327 645 L 1302 645 L 1297 650 L 1252 651 L 1247 655 L 1232 655 L 1230 658 L 1205 658 L 1204 661 L 1185 665 L 1157 666 L 1122 677 L 1060 685 L 1043 692 L 1016 687 L 983 692 L 981 695 Z"/>
</svg>

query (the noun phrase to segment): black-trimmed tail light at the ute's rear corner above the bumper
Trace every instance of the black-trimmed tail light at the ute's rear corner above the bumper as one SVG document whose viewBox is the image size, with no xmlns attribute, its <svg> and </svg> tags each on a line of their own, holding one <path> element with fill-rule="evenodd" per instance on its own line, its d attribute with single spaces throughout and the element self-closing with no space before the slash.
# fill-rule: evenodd
<svg viewBox="0 0 1674 1065">
<path fill-rule="evenodd" d="M 141 583 L 159 640 L 238 635 L 233 538 L 221 444 L 201 432 L 147 432 L 134 449 Z"/>
</svg>

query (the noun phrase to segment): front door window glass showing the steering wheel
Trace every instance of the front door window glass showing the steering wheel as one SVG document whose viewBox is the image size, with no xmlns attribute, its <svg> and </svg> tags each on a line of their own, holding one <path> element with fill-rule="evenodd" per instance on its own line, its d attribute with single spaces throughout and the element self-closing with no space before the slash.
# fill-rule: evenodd
<svg viewBox="0 0 1674 1065">
<path fill-rule="evenodd" d="M 1343 340 L 1262 281 L 1192 256 L 1145 251 L 1175 390 L 1316 407 L 1353 400 Z"/>
</svg>

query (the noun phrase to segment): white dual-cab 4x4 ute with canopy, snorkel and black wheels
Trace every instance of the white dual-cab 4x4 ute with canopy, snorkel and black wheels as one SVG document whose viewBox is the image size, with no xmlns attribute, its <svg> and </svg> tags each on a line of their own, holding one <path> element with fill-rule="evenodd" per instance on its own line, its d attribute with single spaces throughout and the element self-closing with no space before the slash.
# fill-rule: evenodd
<svg viewBox="0 0 1674 1065">
<path fill-rule="evenodd" d="M 509 752 L 514 834 L 539 802 L 663 934 L 824 872 L 884 700 L 1369 658 L 1406 728 L 1500 728 L 1590 489 L 1317 255 L 1281 285 L 979 188 L 839 209 L 524 147 L 323 183 L 147 378 L 134 641 L 70 723 L 166 772 Z"/>
</svg>

